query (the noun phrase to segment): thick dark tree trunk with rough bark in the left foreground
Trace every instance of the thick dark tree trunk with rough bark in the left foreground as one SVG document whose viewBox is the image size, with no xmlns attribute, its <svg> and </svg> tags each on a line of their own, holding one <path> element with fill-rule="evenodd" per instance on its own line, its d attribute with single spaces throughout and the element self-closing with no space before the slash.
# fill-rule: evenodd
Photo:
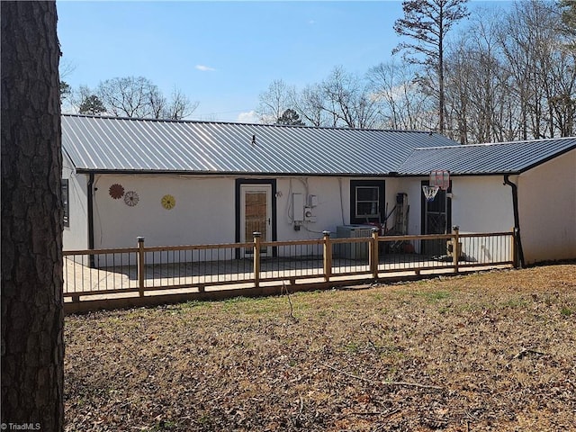
<svg viewBox="0 0 576 432">
<path fill-rule="evenodd" d="M 2 423 L 8 430 L 61 431 L 64 320 L 56 3 L 3 1 L 0 12 Z"/>
</svg>

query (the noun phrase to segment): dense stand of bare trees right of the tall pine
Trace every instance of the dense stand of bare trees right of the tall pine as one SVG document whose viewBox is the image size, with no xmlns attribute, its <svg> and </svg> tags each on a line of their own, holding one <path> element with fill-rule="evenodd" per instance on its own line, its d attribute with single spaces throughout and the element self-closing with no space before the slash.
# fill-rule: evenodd
<svg viewBox="0 0 576 432">
<path fill-rule="evenodd" d="M 560 12 L 530 0 L 473 16 L 446 55 L 447 134 L 461 142 L 540 139 L 574 133 L 576 53 Z"/>
</svg>

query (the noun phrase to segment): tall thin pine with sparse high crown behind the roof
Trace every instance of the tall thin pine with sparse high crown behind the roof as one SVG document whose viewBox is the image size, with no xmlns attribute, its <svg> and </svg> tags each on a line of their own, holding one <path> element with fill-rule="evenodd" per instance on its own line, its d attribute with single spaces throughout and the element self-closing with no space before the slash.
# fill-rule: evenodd
<svg viewBox="0 0 576 432">
<path fill-rule="evenodd" d="M 444 52 L 446 33 L 455 23 L 468 16 L 468 0 L 404 0 L 404 17 L 396 20 L 394 31 L 414 42 L 404 42 L 392 52 L 406 50 L 408 60 L 430 67 L 437 76 L 438 129 L 445 127 Z M 424 58 L 414 56 L 419 54 Z"/>
</svg>

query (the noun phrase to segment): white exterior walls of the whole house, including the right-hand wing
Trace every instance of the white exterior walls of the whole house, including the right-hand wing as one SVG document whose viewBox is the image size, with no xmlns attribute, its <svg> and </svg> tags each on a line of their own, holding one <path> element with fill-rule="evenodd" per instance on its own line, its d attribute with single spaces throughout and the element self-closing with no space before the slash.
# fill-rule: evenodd
<svg viewBox="0 0 576 432">
<path fill-rule="evenodd" d="M 64 229 L 66 250 L 88 247 L 87 175 L 76 175 L 65 157 L 70 226 Z M 519 176 L 520 227 L 527 263 L 576 257 L 576 151 L 557 157 Z M 557 178 L 556 173 L 563 173 Z M 262 179 L 263 177 L 256 177 Z M 350 181 L 363 177 L 280 177 L 276 179 L 278 240 L 321 238 L 323 230 L 336 235 L 338 225 L 350 223 Z M 364 178 L 365 179 L 365 178 Z M 376 178 L 370 177 L 374 180 Z M 193 175 L 95 175 L 94 248 L 134 247 L 137 237 L 147 246 L 231 243 L 236 238 L 236 177 Z M 409 234 L 421 232 L 421 181 L 425 177 L 383 178 L 388 211 L 397 193 L 407 193 Z M 139 194 L 130 207 L 109 194 L 112 184 Z M 169 193 L 175 208 L 160 204 Z M 293 225 L 292 194 L 306 200 L 315 195 L 315 221 Z M 509 231 L 514 226 L 512 190 L 502 175 L 454 176 L 452 224 L 462 233 Z M 388 221 L 392 228 L 394 215 Z"/>
</svg>

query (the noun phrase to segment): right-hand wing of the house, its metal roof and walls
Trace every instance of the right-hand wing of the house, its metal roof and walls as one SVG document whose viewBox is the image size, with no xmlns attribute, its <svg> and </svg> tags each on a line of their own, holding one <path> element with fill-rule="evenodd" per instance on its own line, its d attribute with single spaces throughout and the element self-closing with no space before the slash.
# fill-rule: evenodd
<svg viewBox="0 0 576 432">
<path fill-rule="evenodd" d="M 576 138 L 418 148 L 398 174 L 406 190 L 416 192 L 422 176 L 438 167 L 450 172 L 451 187 L 432 205 L 421 202 L 421 227 L 446 198 L 441 211 L 448 227 L 516 227 L 523 264 L 576 258 Z"/>
</svg>

